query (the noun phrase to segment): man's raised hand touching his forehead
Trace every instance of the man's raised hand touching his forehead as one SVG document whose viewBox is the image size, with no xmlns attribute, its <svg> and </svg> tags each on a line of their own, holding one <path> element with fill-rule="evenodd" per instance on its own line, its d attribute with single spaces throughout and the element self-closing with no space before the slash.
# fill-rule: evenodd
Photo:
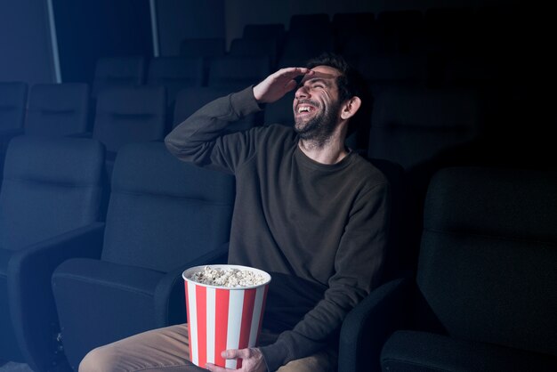
<svg viewBox="0 0 557 372">
<path fill-rule="evenodd" d="M 286 93 L 296 87 L 295 77 L 306 74 L 311 75 L 313 71 L 302 67 L 279 69 L 274 74 L 266 77 L 261 83 L 254 86 L 255 100 L 260 103 L 278 101 Z"/>
</svg>

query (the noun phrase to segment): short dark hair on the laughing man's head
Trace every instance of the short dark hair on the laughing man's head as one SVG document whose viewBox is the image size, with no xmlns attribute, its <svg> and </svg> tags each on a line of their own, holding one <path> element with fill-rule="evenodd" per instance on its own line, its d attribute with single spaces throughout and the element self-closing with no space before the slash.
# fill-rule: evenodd
<svg viewBox="0 0 557 372">
<path fill-rule="evenodd" d="M 328 66 L 337 69 L 341 75 L 336 78 L 338 86 L 338 97 L 341 102 L 359 96 L 364 92 L 364 86 L 361 85 L 362 78 L 356 69 L 344 60 L 341 55 L 335 53 L 323 53 L 319 57 L 311 59 L 306 63 L 307 69 L 313 69 L 317 66 Z"/>
</svg>

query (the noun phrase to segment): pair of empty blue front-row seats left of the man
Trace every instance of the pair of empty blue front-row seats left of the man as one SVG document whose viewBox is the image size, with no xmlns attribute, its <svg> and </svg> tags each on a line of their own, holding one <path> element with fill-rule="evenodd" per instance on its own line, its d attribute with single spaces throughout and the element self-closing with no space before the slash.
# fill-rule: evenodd
<svg viewBox="0 0 557 372">
<path fill-rule="evenodd" d="M 182 271 L 226 261 L 232 176 L 141 142 L 118 152 L 109 190 L 104 157 L 94 139 L 10 142 L 0 190 L 0 360 L 77 370 L 94 346 L 185 321 Z"/>
</svg>

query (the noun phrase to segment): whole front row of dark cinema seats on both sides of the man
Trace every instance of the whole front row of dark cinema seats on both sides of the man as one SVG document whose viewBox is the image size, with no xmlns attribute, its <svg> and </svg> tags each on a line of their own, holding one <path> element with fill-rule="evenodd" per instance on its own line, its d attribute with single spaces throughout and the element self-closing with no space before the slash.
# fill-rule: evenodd
<svg viewBox="0 0 557 372">
<path fill-rule="evenodd" d="M 129 144 L 102 218 L 103 156 L 93 139 L 10 142 L 0 360 L 77 370 L 95 346 L 184 321 L 182 271 L 226 260 L 233 177 L 182 163 L 160 142 Z M 351 311 L 339 370 L 554 370 L 556 188 L 551 171 L 436 173 L 417 270 L 400 278 L 389 266 L 394 279 Z M 394 236 L 405 233 L 398 222 Z"/>
</svg>

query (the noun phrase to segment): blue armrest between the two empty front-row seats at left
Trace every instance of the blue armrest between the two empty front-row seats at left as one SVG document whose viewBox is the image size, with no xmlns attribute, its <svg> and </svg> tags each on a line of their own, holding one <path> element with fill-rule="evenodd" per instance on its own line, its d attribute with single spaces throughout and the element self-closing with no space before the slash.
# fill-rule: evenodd
<svg viewBox="0 0 557 372">
<path fill-rule="evenodd" d="M 104 223 L 94 222 L 12 255 L 7 282 L 13 328 L 21 352 L 34 370 L 52 368 L 56 362 L 59 326 L 52 272 L 72 257 L 99 258 L 103 236 Z M 45 351 L 50 351 L 50 355 L 45 355 Z"/>
</svg>

